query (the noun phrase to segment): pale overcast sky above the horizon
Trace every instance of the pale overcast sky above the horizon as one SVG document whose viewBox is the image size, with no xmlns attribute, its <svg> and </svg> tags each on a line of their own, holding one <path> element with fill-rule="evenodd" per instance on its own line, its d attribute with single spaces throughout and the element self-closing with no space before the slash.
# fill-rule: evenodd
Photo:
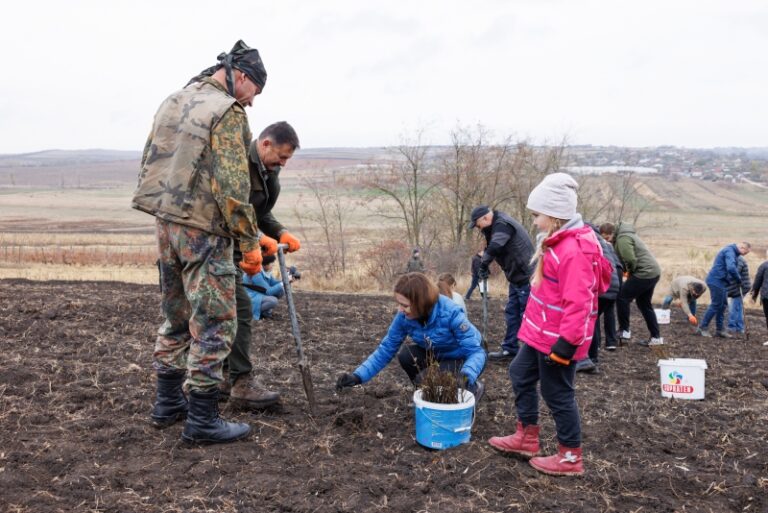
<svg viewBox="0 0 768 513">
<path fill-rule="evenodd" d="M 218 11 L 216 10 L 218 9 Z M 4 4 L 0 153 L 140 150 L 160 102 L 237 39 L 269 78 L 251 127 L 305 148 L 534 142 L 768 146 L 765 0 Z"/>
</svg>

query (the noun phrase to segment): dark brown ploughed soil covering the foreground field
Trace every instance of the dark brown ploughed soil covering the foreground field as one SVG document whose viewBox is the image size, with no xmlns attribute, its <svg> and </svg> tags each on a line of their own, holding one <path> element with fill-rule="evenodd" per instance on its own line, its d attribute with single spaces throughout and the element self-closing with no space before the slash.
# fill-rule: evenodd
<svg viewBox="0 0 768 513">
<path fill-rule="evenodd" d="M 297 292 L 319 400 L 307 415 L 285 306 L 255 330 L 257 367 L 277 410 L 225 415 L 247 441 L 189 447 L 181 425 L 147 423 L 158 292 L 121 283 L 0 281 L 0 510 L 3 512 L 768 511 L 768 339 L 702 339 L 680 311 L 671 356 L 704 358 L 704 401 L 664 399 L 657 357 L 637 345 L 579 375 L 586 475 L 554 478 L 492 450 L 512 429 L 506 368 L 490 364 L 472 441 L 443 452 L 414 440 L 412 390 L 393 362 L 337 395 L 336 376 L 385 332 L 387 297 Z M 490 334 L 502 334 L 491 304 Z M 479 325 L 480 303 L 470 303 Z M 639 320 L 634 312 L 633 322 Z M 635 333 L 644 329 L 633 324 Z M 543 408 L 543 445 L 555 448 Z"/>
</svg>

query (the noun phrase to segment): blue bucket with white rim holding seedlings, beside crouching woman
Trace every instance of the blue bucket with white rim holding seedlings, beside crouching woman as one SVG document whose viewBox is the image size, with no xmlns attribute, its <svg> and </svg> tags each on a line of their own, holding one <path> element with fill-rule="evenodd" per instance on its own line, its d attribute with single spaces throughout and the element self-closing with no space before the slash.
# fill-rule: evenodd
<svg viewBox="0 0 768 513">
<path fill-rule="evenodd" d="M 413 393 L 416 417 L 416 441 L 430 449 L 448 449 L 469 442 L 475 421 L 475 396 L 459 390 L 457 404 L 430 403 Z"/>
</svg>

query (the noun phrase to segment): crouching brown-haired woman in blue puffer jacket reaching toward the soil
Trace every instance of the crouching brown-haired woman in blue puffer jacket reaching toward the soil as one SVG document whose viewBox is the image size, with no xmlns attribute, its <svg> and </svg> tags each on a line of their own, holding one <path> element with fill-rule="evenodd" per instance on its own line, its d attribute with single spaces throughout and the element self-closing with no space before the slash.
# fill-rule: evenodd
<svg viewBox="0 0 768 513">
<path fill-rule="evenodd" d="M 402 275 L 394 292 L 398 312 L 387 334 L 354 372 L 339 376 L 336 388 L 367 383 L 396 354 L 411 382 L 418 386 L 431 356 L 441 369 L 461 374 L 464 388 L 479 401 L 485 387 L 478 378 L 485 368 L 486 354 L 480 332 L 467 320 L 461 307 L 441 295 L 422 273 Z M 412 343 L 401 347 L 406 337 Z"/>
</svg>

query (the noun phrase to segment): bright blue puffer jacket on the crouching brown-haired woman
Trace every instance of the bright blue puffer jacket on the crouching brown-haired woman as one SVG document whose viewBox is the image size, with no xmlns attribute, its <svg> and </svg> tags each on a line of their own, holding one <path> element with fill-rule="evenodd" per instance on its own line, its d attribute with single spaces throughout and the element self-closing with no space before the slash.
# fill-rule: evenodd
<svg viewBox="0 0 768 513">
<path fill-rule="evenodd" d="M 409 336 L 424 349 L 429 349 L 429 345 L 438 361 L 464 360 L 461 372 L 470 385 L 475 383 L 485 367 L 480 332 L 456 303 L 440 295 L 426 324 L 408 319 L 398 312 L 379 347 L 355 369 L 355 374 L 363 383 L 370 381 L 395 357 L 400 345 Z"/>
</svg>

